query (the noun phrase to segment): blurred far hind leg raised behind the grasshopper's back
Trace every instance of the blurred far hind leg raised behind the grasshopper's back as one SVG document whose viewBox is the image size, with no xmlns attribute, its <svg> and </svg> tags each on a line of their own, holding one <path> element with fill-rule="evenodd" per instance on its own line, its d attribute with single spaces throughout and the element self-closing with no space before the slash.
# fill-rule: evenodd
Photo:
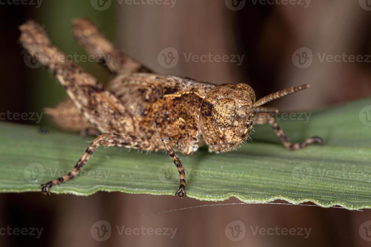
<svg viewBox="0 0 371 247">
<path fill-rule="evenodd" d="M 95 24 L 84 18 L 73 20 L 73 34 L 88 53 L 101 57 L 112 73 L 151 73 L 147 67 L 137 60 L 132 59 L 127 54 L 108 41 L 100 32 Z"/>
</svg>

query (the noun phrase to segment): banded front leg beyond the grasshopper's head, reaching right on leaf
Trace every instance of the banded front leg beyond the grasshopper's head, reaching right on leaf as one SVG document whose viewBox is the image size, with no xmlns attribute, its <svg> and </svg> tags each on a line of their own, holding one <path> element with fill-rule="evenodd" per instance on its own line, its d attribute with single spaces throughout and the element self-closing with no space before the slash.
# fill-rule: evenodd
<svg viewBox="0 0 371 247">
<path fill-rule="evenodd" d="M 301 143 L 290 143 L 288 138 L 286 137 L 285 133 L 281 130 L 278 126 L 278 123 L 274 119 L 274 117 L 270 113 L 258 113 L 255 116 L 254 124 L 266 124 L 269 123 L 272 126 L 273 130 L 276 132 L 277 136 L 280 138 L 283 146 L 285 146 L 288 150 L 298 150 L 302 148 L 306 148 L 308 144 L 311 143 L 319 143 L 322 144 L 323 140 L 318 136 L 313 136 L 308 138 Z"/>
</svg>

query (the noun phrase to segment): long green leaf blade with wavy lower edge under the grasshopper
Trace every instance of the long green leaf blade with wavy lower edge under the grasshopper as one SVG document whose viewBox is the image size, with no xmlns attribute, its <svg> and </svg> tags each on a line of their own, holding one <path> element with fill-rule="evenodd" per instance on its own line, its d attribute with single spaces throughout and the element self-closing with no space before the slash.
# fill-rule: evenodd
<svg viewBox="0 0 371 247">
<path fill-rule="evenodd" d="M 369 104 L 370 99 L 365 99 L 318 111 L 308 123 L 300 114 L 293 120 L 278 121 L 291 141 L 318 135 L 325 141 L 323 146 L 287 151 L 272 128 L 262 125 L 254 126 L 253 141 L 237 151 L 212 154 L 202 147 L 192 156 L 180 155 L 187 169 L 187 196 L 209 201 L 233 196 L 247 203 L 281 199 L 295 204 L 312 201 L 322 207 L 371 208 Z M 284 119 L 285 115 L 278 117 Z M 66 174 L 94 138 L 58 130 L 40 133 L 36 126 L 0 126 L 1 192 L 40 191 L 41 182 Z M 164 152 L 101 147 L 78 178 L 52 187 L 50 192 L 173 195 L 177 188 L 177 171 Z"/>
</svg>

